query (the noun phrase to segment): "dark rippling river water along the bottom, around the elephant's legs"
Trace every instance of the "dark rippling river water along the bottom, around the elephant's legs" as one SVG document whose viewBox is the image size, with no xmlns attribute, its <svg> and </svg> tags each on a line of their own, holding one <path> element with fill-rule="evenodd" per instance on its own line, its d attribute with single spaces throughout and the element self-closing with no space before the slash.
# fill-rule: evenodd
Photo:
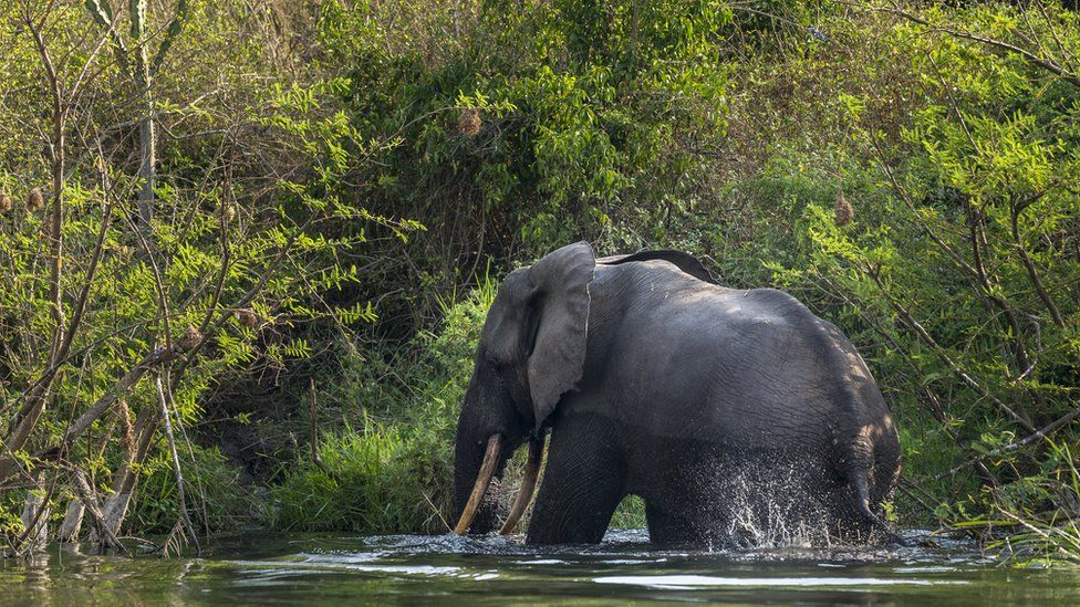
<svg viewBox="0 0 1080 607">
<path fill-rule="evenodd" d="M 706 552 L 646 538 L 613 531 L 599 546 L 534 550 L 501 537 L 253 533 L 167 559 L 53 547 L 0 561 L 0 605 L 1080 604 L 1080 572 L 1003 568 L 963 542 Z"/>
</svg>

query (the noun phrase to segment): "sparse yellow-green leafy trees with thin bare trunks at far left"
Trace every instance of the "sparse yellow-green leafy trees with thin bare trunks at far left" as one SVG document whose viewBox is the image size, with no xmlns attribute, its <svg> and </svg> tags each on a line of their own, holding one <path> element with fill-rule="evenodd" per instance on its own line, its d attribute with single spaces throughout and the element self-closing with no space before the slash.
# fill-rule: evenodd
<svg viewBox="0 0 1080 607">
<path fill-rule="evenodd" d="M 112 484 L 137 486 L 149 474 L 136 494 L 146 500 L 133 509 L 137 524 L 169 528 L 163 516 L 179 504 L 165 500 L 179 494 L 165 480 L 175 474 L 165 470 L 163 450 L 174 446 L 159 440 L 163 410 L 178 429 L 195 425 L 215 388 L 310 357 L 298 327 L 338 321 L 339 306 L 321 295 L 362 280 L 347 255 L 366 230 L 377 226 L 405 241 L 422 227 L 349 196 L 352 176 L 382 144 L 350 126 L 338 101 L 341 79 L 271 74 L 262 61 L 273 49 L 251 61 L 243 52 L 255 44 L 238 41 L 238 24 L 217 20 L 214 6 L 180 0 L 158 54 L 173 45 L 208 63 L 207 53 L 226 52 L 219 44 L 232 34 L 237 54 L 228 56 L 257 70 L 257 85 L 193 69 L 165 71 L 153 84 L 136 77 L 132 91 L 118 70 L 136 42 L 135 62 L 145 67 L 141 38 L 155 27 L 145 2 L 122 15 L 131 21 L 128 43 L 115 27 L 98 31 L 115 25 L 108 3 L 91 2 L 86 12 L 28 7 L 29 14 L 0 10 L 2 103 L 11 118 L 0 125 L 0 190 L 20 201 L 0 214 L 0 491 L 33 488 L 44 471 L 49 486 L 60 488 L 49 495 L 62 515 L 82 472 L 101 480 L 94 489 L 103 507 L 126 512 L 118 503 L 126 493 Z M 180 35 L 177 19 L 205 36 Z M 110 41 L 120 62 L 107 60 Z M 129 135 L 148 118 L 141 104 L 112 100 L 149 86 L 159 101 L 154 119 L 170 137 L 160 142 L 164 166 L 145 224 L 128 214 L 144 181 L 128 158 L 142 151 Z M 215 86 L 220 96 L 209 92 Z M 9 103 L 7 91 L 15 90 Z M 255 132 L 264 139 L 243 135 Z M 28 143 L 32 136 L 41 139 Z M 41 149 L 48 153 L 32 153 Z M 341 308 L 354 323 L 376 317 L 370 305 Z M 150 449 L 136 451 L 138 442 Z M 195 453 L 181 462 L 191 489 L 219 503 L 193 516 L 224 525 L 236 503 L 206 485 L 228 480 L 228 468 L 212 451 Z M 186 505 L 191 514 L 196 504 Z"/>
</svg>

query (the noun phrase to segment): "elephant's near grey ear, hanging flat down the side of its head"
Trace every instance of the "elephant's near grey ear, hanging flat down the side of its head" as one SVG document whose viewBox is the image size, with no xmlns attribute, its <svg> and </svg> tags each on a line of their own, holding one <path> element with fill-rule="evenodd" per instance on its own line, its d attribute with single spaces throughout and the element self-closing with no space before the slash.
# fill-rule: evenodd
<svg viewBox="0 0 1080 607">
<path fill-rule="evenodd" d="M 548 253 L 528 271 L 536 290 L 537 328 L 528 370 L 538 430 L 563 393 L 581 379 L 589 333 L 589 283 L 595 268 L 592 247 L 581 241 Z"/>
</svg>

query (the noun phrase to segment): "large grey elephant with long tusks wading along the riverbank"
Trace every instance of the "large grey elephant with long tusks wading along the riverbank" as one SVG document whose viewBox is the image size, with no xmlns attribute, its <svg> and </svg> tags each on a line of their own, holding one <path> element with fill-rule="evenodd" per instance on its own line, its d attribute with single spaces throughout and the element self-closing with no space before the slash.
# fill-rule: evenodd
<svg viewBox="0 0 1080 607">
<path fill-rule="evenodd" d="M 770 516 L 812 543 L 896 537 L 882 504 L 900 443 L 851 342 L 795 297 L 721 286 L 678 251 L 596 259 L 582 241 L 510 272 L 455 441 L 459 535 L 494 530 L 488 488 L 528 444 L 500 531 L 536 492 L 529 544 L 598 543 L 631 494 L 660 545 L 746 545 L 747 521 Z"/>
</svg>

